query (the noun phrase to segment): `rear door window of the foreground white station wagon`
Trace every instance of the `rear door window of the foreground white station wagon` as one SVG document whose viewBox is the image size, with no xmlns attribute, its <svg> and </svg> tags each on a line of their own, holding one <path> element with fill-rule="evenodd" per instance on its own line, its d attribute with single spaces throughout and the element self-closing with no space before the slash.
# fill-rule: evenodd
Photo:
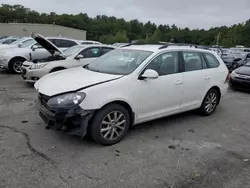
<svg viewBox="0 0 250 188">
<path fill-rule="evenodd" d="M 183 52 L 183 60 L 185 71 L 195 71 L 202 69 L 202 58 L 200 53 L 197 52 Z"/>
</svg>

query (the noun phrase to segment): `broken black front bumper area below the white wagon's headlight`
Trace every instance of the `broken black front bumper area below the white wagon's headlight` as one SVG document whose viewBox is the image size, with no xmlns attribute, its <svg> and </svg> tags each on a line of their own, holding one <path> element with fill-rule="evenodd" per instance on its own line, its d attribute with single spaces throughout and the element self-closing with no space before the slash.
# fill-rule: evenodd
<svg viewBox="0 0 250 188">
<path fill-rule="evenodd" d="M 39 115 L 46 124 L 46 128 L 66 132 L 70 135 L 84 137 L 87 133 L 89 121 L 94 110 L 75 109 L 51 109 L 38 99 Z"/>
</svg>

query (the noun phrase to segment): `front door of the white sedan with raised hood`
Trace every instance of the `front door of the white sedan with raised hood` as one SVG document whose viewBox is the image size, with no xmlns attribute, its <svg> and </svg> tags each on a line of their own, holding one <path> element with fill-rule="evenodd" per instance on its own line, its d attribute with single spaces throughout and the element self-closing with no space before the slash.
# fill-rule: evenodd
<svg viewBox="0 0 250 188">
<path fill-rule="evenodd" d="M 91 63 L 96 58 L 100 57 L 101 48 L 100 47 L 85 48 L 78 55 L 82 55 L 82 58 L 77 59 L 77 56 L 76 56 L 74 62 L 72 62 L 72 67 L 83 66 L 83 65 Z"/>
</svg>

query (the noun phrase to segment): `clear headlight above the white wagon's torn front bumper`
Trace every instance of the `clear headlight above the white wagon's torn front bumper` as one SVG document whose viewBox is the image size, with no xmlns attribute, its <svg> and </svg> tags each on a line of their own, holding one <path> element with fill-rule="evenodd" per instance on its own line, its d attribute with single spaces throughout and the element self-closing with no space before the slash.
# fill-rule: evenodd
<svg viewBox="0 0 250 188">
<path fill-rule="evenodd" d="M 86 97 L 85 93 L 68 93 L 51 98 L 47 105 L 51 108 L 74 108 Z"/>
</svg>

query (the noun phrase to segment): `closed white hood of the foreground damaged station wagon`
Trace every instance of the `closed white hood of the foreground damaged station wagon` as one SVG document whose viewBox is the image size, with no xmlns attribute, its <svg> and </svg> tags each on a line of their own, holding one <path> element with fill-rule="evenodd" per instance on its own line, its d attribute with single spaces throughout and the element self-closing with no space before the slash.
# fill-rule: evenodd
<svg viewBox="0 0 250 188">
<path fill-rule="evenodd" d="M 42 77 L 35 83 L 35 89 L 44 95 L 53 96 L 65 92 L 74 92 L 121 77 L 123 75 L 103 74 L 77 67 Z"/>
</svg>

